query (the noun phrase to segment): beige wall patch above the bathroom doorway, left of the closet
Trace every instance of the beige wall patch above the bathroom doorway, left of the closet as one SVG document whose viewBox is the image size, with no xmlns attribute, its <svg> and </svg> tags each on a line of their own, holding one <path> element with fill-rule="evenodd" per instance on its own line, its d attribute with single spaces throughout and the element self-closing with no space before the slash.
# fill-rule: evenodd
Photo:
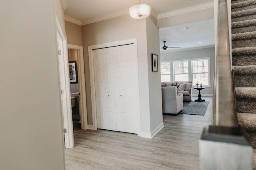
<svg viewBox="0 0 256 170">
<path fill-rule="evenodd" d="M 68 44 L 82 46 L 82 26 L 68 21 L 65 21 L 65 26 Z"/>
</svg>

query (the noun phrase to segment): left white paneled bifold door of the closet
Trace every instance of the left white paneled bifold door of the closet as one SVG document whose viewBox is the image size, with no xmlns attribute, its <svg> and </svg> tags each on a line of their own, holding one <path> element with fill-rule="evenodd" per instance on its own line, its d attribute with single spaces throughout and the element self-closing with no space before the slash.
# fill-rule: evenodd
<svg viewBox="0 0 256 170">
<path fill-rule="evenodd" d="M 94 50 L 93 57 L 98 128 L 116 131 L 112 49 Z"/>
</svg>

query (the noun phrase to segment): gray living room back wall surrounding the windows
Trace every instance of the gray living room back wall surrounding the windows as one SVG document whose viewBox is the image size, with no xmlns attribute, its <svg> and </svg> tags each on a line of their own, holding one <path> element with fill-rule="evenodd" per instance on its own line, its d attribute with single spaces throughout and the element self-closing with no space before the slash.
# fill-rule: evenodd
<svg viewBox="0 0 256 170">
<path fill-rule="evenodd" d="M 172 61 L 172 60 L 183 60 L 183 59 L 198 59 L 204 57 L 210 57 L 210 81 L 211 87 L 205 88 L 201 91 L 202 96 L 204 94 L 212 95 L 212 86 L 213 86 L 213 72 L 215 70 L 215 48 L 205 48 L 205 49 L 195 49 L 187 51 L 176 51 L 170 53 L 161 53 L 161 61 Z M 173 72 L 171 72 L 173 74 Z M 192 81 L 192 80 L 190 80 Z M 194 95 L 198 94 L 198 90 L 192 89 Z"/>
</svg>

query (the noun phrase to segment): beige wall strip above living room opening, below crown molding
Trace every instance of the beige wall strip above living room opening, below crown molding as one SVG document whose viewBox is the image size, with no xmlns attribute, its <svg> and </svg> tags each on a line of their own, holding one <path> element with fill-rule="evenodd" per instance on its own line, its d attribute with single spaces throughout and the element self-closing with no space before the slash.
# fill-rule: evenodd
<svg viewBox="0 0 256 170">
<path fill-rule="evenodd" d="M 170 25 L 186 23 L 186 22 L 193 22 L 197 20 L 205 20 L 208 18 L 214 18 L 214 8 L 207 8 L 203 10 L 188 12 L 185 14 L 180 14 L 176 16 L 171 16 L 167 18 L 161 18 L 157 20 L 157 26 L 167 27 Z"/>
</svg>

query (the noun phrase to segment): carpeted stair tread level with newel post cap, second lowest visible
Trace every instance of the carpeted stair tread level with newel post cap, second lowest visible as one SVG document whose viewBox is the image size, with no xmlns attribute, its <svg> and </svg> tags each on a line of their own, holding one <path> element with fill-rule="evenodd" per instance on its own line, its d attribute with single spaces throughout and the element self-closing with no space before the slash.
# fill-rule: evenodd
<svg viewBox="0 0 256 170">
<path fill-rule="evenodd" d="M 254 113 L 237 113 L 238 125 L 249 131 L 256 130 L 256 114 Z"/>
</svg>

